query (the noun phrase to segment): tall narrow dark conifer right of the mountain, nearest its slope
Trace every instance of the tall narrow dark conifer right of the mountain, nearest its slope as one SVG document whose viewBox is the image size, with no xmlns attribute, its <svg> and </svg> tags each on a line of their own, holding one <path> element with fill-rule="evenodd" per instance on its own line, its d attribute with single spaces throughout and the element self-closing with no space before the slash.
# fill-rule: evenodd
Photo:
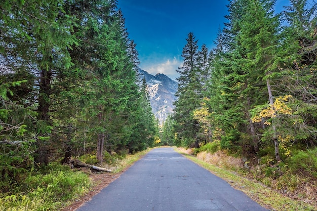
<svg viewBox="0 0 317 211">
<path fill-rule="evenodd" d="M 194 143 L 195 147 L 199 147 L 199 139 L 197 133 L 200 126 L 193 118 L 193 111 L 200 107 L 201 82 L 200 71 L 197 65 L 198 45 L 193 33 L 188 33 L 186 38 L 187 44 L 183 48 L 182 57 L 184 64 L 179 67 L 177 72 L 180 76 L 178 80 L 178 90 L 176 96 L 178 99 L 174 102 L 175 113 L 174 120 L 177 124 L 176 133 L 183 141 L 184 145 L 190 146 Z"/>
</svg>

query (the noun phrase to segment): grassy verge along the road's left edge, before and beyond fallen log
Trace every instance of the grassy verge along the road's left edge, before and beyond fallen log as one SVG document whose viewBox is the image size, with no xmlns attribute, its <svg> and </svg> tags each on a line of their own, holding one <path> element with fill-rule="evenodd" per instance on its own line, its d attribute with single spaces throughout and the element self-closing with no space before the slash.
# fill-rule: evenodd
<svg viewBox="0 0 317 211">
<path fill-rule="evenodd" d="M 149 150 L 117 159 L 111 169 L 123 172 Z M 21 181 L 0 182 L 0 211 L 60 210 L 88 193 L 95 185 L 89 175 L 50 163 Z"/>
</svg>

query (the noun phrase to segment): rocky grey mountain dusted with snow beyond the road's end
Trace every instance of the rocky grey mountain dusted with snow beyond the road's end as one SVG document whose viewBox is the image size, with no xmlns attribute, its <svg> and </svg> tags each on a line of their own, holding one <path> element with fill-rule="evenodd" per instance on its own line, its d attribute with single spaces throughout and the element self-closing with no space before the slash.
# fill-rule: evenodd
<svg viewBox="0 0 317 211">
<path fill-rule="evenodd" d="M 153 113 L 162 123 L 169 113 L 173 113 L 178 84 L 165 74 L 151 75 L 140 68 L 138 71 L 141 79 L 144 77 L 147 83 Z"/>
</svg>

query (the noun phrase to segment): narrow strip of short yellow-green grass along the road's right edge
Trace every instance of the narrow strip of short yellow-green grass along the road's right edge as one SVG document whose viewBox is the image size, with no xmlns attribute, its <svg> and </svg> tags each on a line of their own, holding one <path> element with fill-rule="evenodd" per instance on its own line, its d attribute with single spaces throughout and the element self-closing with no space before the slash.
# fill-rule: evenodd
<svg viewBox="0 0 317 211">
<path fill-rule="evenodd" d="M 182 152 L 180 152 L 182 153 Z M 182 153 L 190 160 L 201 165 L 209 170 L 211 173 L 227 181 L 235 189 L 241 190 L 246 193 L 250 198 L 257 201 L 262 206 L 274 211 L 313 211 L 317 210 L 316 206 L 309 205 L 303 201 L 298 201 L 286 197 L 278 192 L 264 186 L 263 184 L 252 181 L 236 173 L 223 170 L 194 156 Z"/>
</svg>

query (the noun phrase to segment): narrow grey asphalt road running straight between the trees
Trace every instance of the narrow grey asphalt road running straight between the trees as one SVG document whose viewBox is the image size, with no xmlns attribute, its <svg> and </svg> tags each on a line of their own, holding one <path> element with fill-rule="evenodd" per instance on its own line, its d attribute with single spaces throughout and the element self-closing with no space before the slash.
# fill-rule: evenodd
<svg viewBox="0 0 317 211">
<path fill-rule="evenodd" d="M 151 150 L 77 211 L 267 211 L 172 148 Z"/>
</svg>

